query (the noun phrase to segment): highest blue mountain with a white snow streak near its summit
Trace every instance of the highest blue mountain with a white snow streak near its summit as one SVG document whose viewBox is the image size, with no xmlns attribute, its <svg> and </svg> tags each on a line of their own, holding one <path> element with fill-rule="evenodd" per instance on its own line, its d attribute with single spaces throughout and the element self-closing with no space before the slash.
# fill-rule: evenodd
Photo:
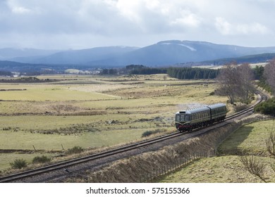
<svg viewBox="0 0 275 197">
<path fill-rule="evenodd" d="M 210 61 L 219 58 L 237 58 L 259 53 L 274 53 L 275 47 L 244 47 L 209 42 L 164 41 L 125 53 L 122 56 L 91 65 L 173 65 L 177 63 Z"/>
</svg>

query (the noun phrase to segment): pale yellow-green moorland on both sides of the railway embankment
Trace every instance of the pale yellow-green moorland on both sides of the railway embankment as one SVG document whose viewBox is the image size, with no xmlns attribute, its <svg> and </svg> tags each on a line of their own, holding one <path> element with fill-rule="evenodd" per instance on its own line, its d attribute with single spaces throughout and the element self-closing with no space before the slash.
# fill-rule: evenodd
<svg viewBox="0 0 275 197">
<path fill-rule="evenodd" d="M 93 152 L 176 132 L 178 110 L 226 103 L 226 96 L 215 94 L 218 86 L 215 80 L 178 80 L 166 74 L 3 77 L 1 174 L 12 172 L 16 159 L 35 167 L 33 158 L 46 155 L 56 162 L 66 159 L 66 151 L 76 146 Z M 233 112 L 228 106 L 228 114 Z M 272 127 L 271 120 L 245 125 L 221 144 L 217 157 L 195 160 L 157 182 L 261 182 L 243 169 L 236 154 L 245 150 L 259 158 L 267 155 L 267 131 L 261 124 Z"/>
</svg>

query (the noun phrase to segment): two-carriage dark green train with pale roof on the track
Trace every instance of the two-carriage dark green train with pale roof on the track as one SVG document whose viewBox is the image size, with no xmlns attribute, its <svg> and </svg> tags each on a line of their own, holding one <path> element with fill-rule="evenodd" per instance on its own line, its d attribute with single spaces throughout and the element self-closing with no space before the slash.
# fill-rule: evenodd
<svg viewBox="0 0 275 197">
<path fill-rule="evenodd" d="M 226 105 L 216 103 L 200 108 L 181 110 L 176 113 L 175 125 L 180 132 L 192 131 L 198 127 L 207 127 L 226 118 Z"/>
</svg>

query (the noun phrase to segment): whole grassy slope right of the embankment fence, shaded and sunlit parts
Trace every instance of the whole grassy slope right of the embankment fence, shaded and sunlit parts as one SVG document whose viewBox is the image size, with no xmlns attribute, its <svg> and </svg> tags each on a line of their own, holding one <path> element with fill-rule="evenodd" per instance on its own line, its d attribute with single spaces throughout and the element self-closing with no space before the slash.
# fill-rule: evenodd
<svg viewBox="0 0 275 197">
<path fill-rule="evenodd" d="M 264 164 L 267 182 L 275 182 L 275 172 L 271 169 L 275 159 L 267 154 L 265 139 L 267 131 L 274 127 L 273 120 L 254 122 L 240 127 L 219 146 L 219 156 L 202 158 L 172 174 L 159 182 L 216 182 L 216 183 L 253 183 L 261 182 L 244 170 L 238 154 L 255 157 Z M 267 128 L 267 129 L 266 129 Z"/>
</svg>

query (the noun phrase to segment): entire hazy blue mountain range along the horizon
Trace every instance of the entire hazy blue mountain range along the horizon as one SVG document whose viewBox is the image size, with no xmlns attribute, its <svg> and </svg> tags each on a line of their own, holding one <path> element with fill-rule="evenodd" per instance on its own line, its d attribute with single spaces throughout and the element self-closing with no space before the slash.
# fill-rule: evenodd
<svg viewBox="0 0 275 197">
<path fill-rule="evenodd" d="M 130 64 L 164 66 L 188 62 L 212 61 L 222 58 L 239 58 L 241 56 L 252 56 L 262 53 L 275 53 L 275 46 L 245 47 L 209 42 L 169 40 L 142 48 L 109 46 L 58 52 L 25 51 L 24 53 L 22 51 L 8 53 L 5 50 L 0 49 L 0 60 L 3 60 L 1 57 L 5 57 L 5 60 L 9 57 L 8 60 L 21 63 L 118 67 Z"/>
</svg>

